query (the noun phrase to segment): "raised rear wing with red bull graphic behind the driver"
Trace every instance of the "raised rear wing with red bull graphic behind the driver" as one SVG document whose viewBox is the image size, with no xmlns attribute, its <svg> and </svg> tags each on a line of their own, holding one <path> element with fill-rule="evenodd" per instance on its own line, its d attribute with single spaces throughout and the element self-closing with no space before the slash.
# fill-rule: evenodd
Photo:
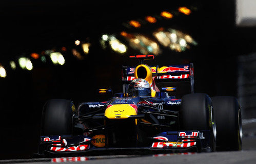
<svg viewBox="0 0 256 164">
<path fill-rule="evenodd" d="M 150 66 L 152 78 L 158 88 L 164 86 L 177 87 L 176 97 L 180 98 L 185 94 L 194 91 L 194 69 L 193 63 L 168 65 L 168 66 Z M 128 84 L 135 79 L 134 71 L 136 66 L 122 66 L 123 91 L 126 92 Z"/>
</svg>

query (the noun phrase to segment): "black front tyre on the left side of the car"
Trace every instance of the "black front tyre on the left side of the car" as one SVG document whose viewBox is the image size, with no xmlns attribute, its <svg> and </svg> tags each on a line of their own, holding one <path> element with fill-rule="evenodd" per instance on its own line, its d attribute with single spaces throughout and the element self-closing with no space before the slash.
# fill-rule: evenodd
<svg viewBox="0 0 256 164">
<path fill-rule="evenodd" d="M 50 99 L 43 109 L 41 135 L 68 135 L 73 131 L 74 104 L 71 100 Z"/>
</svg>

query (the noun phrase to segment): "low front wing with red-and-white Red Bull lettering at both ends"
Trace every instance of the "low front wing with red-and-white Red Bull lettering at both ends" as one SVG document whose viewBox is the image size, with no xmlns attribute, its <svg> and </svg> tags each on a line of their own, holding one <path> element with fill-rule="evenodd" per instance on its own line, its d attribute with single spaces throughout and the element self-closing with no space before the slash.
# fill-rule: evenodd
<svg viewBox="0 0 256 164">
<path fill-rule="evenodd" d="M 211 151 L 210 131 L 168 131 L 146 139 L 148 147 L 110 148 L 104 135 L 92 138 L 85 135 L 41 136 L 35 156 L 90 156 L 120 154 L 160 154 Z M 97 135 L 99 136 L 99 135 Z"/>
</svg>

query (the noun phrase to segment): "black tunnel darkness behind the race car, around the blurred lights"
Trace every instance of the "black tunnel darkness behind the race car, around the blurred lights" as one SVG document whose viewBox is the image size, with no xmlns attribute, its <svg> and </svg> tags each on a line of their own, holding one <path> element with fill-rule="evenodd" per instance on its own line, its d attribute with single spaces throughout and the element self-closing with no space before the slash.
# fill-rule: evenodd
<svg viewBox="0 0 256 164">
<path fill-rule="evenodd" d="M 189 16 L 178 11 L 181 6 L 193 8 Z M 124 26 L 130 20 L 143 19 L 160 12 L 176 11 L 171 20 L 146 24 L 139 29 Z M 129 55 L 140 54 L 129 48 L 118 54 L 107 46 L 103 34 L 121 31 L 152 35 L 160 27 L 178 29 L 190 34 L 198 45 L 182 53 L 161 46 L 162 53 L 153 63 L 159 65 L 194 63 L 195 92 L 210 97 L 237 96 L 237 56 L 255 52 L 255 29 L 235 26 L 234 1 L 1 1 L 0 63 L 7 71 L 0 78 L 0 159 L 30 158 L 37 151 L 40 121 L 44 103 L 51 98 L 81 102 L 95 101 L 97 88 L 122 91 L 121 66 L 135 64 Z M 75 40 L 90 42 L 89 54 L 77 60 L 71 49 Z M 121 41 L 122 38 L 120 37 Z M 123 41 L 126 43 L 125 41 Z M 32 59 L 32 71 L 9 61 L 45 50 L 67 51 L 64 65 Z M 152 62 L 149 62 L 149 64 Z"/>
</svg>

